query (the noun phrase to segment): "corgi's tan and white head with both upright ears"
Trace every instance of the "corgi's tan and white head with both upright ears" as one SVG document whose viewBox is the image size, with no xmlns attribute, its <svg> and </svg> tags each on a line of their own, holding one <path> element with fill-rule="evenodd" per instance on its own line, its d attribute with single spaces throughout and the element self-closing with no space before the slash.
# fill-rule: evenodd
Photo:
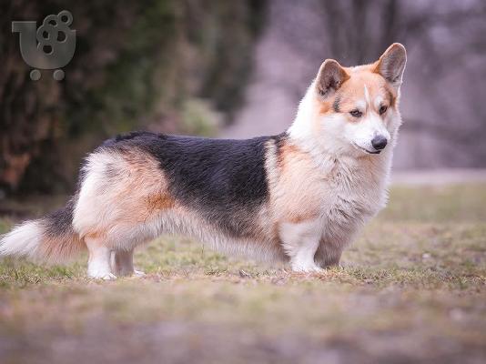
<svg viewBox="0 0 486 364">
<path fill-rule="evenodd" d="M 357 157 L 380 154 L 390 145 L 400 124 L 398 98 L 406 61 L 405 47 L 398 43 L 371 65 L 343 67 L 327 59 L 301 106 L 313 110 L 307 123 L 319 144 Z"/>
</svg>

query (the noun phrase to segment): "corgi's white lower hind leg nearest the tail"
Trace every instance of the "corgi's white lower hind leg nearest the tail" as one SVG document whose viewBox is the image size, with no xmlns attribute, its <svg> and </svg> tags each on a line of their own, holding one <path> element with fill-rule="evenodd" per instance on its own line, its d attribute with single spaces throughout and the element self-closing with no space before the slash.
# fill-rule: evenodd
<svg viewBox="0 0 486 364">
<path fill-rule="evenodd" d="M 111 249 L 106 247 L 104 241 L 99 238 L 86 237 L 85 242 L 89 253 L 87 261 L 88 277 L 105 280 L 116 279 L 110 268 Z"/>
</svg>

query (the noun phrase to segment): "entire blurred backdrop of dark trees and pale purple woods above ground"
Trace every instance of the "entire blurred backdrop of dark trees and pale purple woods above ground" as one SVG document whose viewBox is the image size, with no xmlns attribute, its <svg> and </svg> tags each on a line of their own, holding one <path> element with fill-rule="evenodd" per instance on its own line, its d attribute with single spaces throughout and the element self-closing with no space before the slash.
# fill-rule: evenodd
<svg viewBox="0 0 486 364">
<path fill-rule="evenodd" d="M 76 53 L 29 77 L 12 21 L 69 10 Z M 325 58 L 407 46 L 397 170 L 486 167 L 486 3 L 148 0 L 0 2 L 0 197 L 66 193 L 103 139 L 134 129 L 279 133 Z"/>
</svg>

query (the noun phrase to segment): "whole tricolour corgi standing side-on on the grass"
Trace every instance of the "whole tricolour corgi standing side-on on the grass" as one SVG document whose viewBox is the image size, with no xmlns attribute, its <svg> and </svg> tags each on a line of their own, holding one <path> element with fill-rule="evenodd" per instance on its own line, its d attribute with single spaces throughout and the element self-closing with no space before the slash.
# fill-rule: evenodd
<svg viewBox="0 0 486 364">
<path fill-rule="evenodd" d="M 405 47 L 366 66 L 327 59 L 289 129 L 247 140 L 134 132 L 86 157 L 76 194 L 0 239 L 0 255 L 60 262 L 87 248 L 87 275 L 142 274 L 133 252 L 161 234 L 300 272 L 339 264 L 387 202 Z"/>
</svg>

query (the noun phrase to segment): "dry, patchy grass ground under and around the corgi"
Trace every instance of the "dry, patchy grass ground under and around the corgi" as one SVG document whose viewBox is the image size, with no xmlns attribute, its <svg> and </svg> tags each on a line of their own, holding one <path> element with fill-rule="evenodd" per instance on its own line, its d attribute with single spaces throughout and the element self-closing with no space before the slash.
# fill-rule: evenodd
<svg viewBox="0 0 486 364">
<path fill-rule="evenodd" d="M 0 231 L 28 215 L 23 201 L 0 210 Z M 147 277 L 113 282 L 87 279 L 86 257 L 67 267 L 6 259 L 0 361 L 483 363 L 485 221 L 486 185 L 394 187 L 343 268 L 321 274 L 186 238 L 140 249 Z"/>
</svg>

